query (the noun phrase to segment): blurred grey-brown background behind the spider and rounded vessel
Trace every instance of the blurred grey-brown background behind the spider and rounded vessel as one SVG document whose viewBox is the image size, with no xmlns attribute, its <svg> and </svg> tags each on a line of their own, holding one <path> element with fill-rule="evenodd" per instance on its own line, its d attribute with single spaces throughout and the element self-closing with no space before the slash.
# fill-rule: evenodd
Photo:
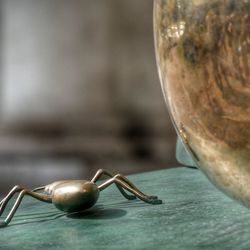
<svg viewBox="0 0 250 250">
<path fill-rule="evenodd" d="M 176 166 L 152 0 L 0 0 L 0 190 Z"/>
</svg>

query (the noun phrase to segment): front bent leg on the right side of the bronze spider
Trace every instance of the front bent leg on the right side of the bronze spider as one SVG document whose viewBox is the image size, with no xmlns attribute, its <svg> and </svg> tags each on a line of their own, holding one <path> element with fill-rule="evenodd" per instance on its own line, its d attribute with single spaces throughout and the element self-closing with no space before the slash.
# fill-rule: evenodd
<svg viewBox="0 0 250 250">
<path fill-rule="evenodd" d="M 146 203 L 150 203 L 150 204 L 161 204 L 162 203 L 162 200 L 155 198 L 155 196 L 148 196 L 148 195 L 143 194 L 140 191 L 138 192 L 137 188 L 134 189 L 131 186 L 129 186 L 126 182 L 121 180 L 119 175 L 116 175 L 112 179 L 109 179 L 106 182 L 102 183 L 100 186 L 98 186 L 98 188 L 100 189 L 100 191 L 102 191 L 103 189 L 107 188 L 108 186 L 110 186 L 113 183 L 123 187 L 124 189 L 126 189 L 130 193 L 134 194 L 136 197 L 138 197 L 140 200 L 142 200 Z"/>
</svg>

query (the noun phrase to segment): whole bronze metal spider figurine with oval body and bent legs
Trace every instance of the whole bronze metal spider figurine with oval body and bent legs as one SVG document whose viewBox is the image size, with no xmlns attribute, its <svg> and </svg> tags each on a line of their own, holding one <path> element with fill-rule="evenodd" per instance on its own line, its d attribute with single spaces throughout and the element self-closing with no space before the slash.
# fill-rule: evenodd
<svg viewBox="0 0 250 250">
<path fill-rule="evenodd" d="M 103 175 L 110 177 L 104 183 L 97 185 L 96 181 Z M 91 181 L 86 180 L 63 180 L 56 181 L 47 186 L 38 187 L 33 190 L 28 190 L 20 186 L 15 186 L 8 195 L 0 202 L 0 216 L 2 215 L 6 205 L 10 199 L 19 193 L 15 204 L 10 210 L 4 221 L 0 221 L 0 227 L 7 226 L 13 218 L 17 208 L 19 207 L 23 197 L 29 195 L 40 201 L 53 203 L 56 208 L 61 211 L 72 213 L 80 212 L 92 207 L 98 200 L 99 193 L 111 184 L 116 184 L 121 194 L 128 200 L 136 198 L 150 204 L 161 204 L 162 201 L 157 196 L 148 196 L 142 193 L 133 183 L 121 174 L 113 175 L 110 172 L 100 169 L 97 171 Z M 127 194 L 125 191 L 132 193 Z"/>
</svg>

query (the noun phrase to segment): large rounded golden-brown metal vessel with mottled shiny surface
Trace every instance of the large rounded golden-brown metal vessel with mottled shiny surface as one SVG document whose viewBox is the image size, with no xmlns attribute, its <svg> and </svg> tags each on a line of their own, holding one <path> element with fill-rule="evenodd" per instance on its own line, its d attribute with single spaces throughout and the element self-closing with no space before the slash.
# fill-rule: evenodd
<svg viewBox="0 0 250 250">
<path fill-rule="evenodd" d="M 199 168 L 250 207 L 250 0 L 155 0 L 175 127 Z"/>
</svg>

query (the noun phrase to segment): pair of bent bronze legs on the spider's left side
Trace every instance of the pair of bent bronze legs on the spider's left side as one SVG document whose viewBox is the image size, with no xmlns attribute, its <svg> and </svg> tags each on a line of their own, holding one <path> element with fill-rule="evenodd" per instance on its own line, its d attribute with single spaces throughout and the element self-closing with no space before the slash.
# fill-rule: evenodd
<svg viewBox="0 0 250 250">
<path fill-rule="evenodd" d="M 40 201 L 51 203 L 51 198 L 45 194 L 38 194 L 32 191 L 29 191 L 27 189 L 23 189 L 20 186 L 15 186 L 10 193 L 4 198 L 4 201 L 1 206 L 1 214 L 3 213 L 6 205 L 8 204 L 9 200 L 13 197 L 13 195 L 17 192 L 20 192 L 13 207 L 11 208 L 10 212 L 8 213 L 6 219 L 4 221 L 0 221 L 0 228 L 7 226 L 10 221 L 12 220 L 14 214 L 16 213 L 16 210 L 18 209 L 24 195 L 29 195 L 33 198 L 36 198 Z"/>
</svg>

